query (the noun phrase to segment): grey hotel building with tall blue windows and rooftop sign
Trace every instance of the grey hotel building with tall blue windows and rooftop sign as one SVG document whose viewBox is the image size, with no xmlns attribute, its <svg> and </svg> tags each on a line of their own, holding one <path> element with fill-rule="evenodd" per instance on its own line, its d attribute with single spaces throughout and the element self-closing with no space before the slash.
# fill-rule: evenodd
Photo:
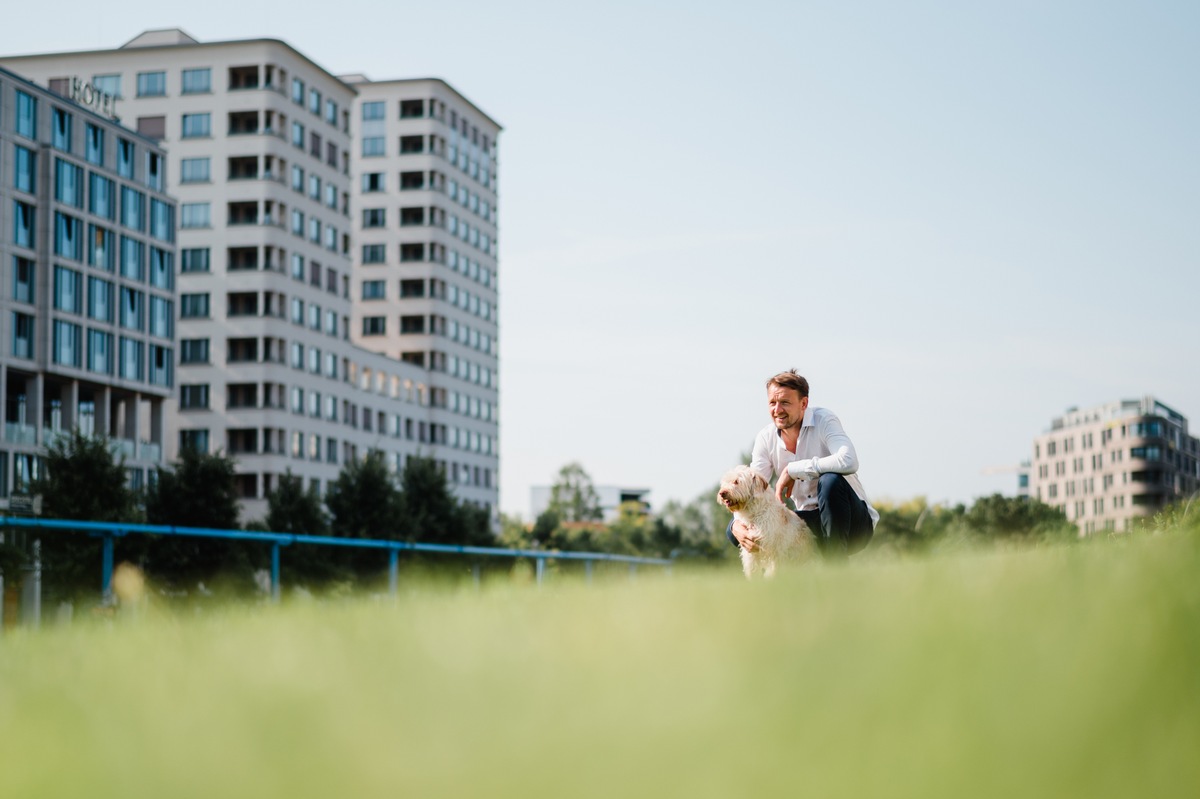
<svg viewBox="0 0 1200 799">
<path fill-rule="evenodd" d="M 161 465 L 175 382 L 175 200 L 164 150 L 114 97 L 0 68 L 0 505 L 73 428 L 137 487 Z"/>
</svg>

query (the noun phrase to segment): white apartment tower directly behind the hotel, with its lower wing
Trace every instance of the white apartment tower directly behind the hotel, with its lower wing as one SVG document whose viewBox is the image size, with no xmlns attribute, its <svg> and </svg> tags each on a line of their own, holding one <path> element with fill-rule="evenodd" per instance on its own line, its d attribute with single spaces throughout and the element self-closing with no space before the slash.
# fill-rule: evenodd
<svg viewBox="0 0 1200 799">
<path fill-rule="evenodd" d="M 284 42 L 180 30 L 0 65 L 52 91 L 78 82 L 115 97 L 122 121 L 169 151 L 179 386 L 168 457 L 180 446 L 233 455 L 245 518 L 265 512 L 286 470 L 324 489 L 368 449 L 397 470 L 422 455 L 448 474 L 475 447 L 496 451 L 494 421 L 486 443 L 451 435 L 463 425 L 431 370 L 352 341 L 355 89 Z M 460 495 L 494 509 L 496 465 Z"/>
</svg>

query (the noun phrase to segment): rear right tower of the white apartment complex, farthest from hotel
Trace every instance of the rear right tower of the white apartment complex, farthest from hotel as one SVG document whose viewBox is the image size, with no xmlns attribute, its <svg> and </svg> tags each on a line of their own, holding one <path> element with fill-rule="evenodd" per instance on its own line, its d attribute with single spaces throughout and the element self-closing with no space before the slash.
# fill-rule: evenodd
<svg viewBox="0 0 1200 799">
<path fill-rule="evenodd" d="M 497 137 L 444 80 L 367 80 L 350 114 L 354 341 L 428 370 L 460 495 L 490 501 L 499 464 Z"/>
</svg>

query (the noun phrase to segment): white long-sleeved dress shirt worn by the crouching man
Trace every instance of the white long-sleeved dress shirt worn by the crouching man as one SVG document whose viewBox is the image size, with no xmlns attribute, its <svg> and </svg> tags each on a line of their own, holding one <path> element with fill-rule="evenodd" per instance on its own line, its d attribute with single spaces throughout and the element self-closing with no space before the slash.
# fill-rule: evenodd
<svg viewBox="0 0 1200 799">
<path fill-rule="evenodd" d="M 866 499 L 863 483 L 858 480 L 858 455 L 841 420 L 827 408 L 809 407 L 800 423 L 800 437 L 796 441 L 796 452 L 788 452 L 779 428 L 772 422 L 758 432 L 754 441 L 754 453 L 750 468 L 770 482 L 776 474 L 787 474 L 796 479 L 792 486 L 792 501 L 799 510 L 817 509 L 817 477 L 827 471 L 845 475 L 846 482 L 854 489 L 859 499 L 866 503 L 871 515 L 871 527 L 878 523 L 880 513 Z"/>
</svg>

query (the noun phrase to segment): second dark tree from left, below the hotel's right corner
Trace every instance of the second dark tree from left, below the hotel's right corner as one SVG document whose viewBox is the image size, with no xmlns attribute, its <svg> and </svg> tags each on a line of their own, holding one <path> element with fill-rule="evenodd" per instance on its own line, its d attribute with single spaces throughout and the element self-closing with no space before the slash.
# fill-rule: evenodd
<svg viewBox="0 0 1200 799">
<path fill-rule="evenodd" d="M 158 469 L 146 491 L 150 524 L 238 529 L 240 503 L 235 461 L 185 447 L 170 469 Z M 218 576 L 248 584 L 265 560 L 258 545 L 223 539 L 155 535 L 146 547 L 146 571 L 175 587 L 211 583 Z"/>
</svg>

